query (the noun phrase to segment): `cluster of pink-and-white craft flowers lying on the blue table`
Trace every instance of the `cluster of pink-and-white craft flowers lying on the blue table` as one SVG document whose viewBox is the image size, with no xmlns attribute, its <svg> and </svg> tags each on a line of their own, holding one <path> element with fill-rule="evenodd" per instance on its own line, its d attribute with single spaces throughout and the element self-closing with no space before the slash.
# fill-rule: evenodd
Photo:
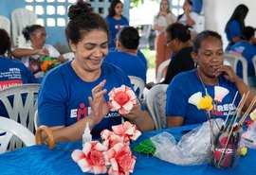
<svg viewBox="0 0 256 175">
<path fill-rule="evenodd" d="M 102 144 L 99 141 L 85 142 L 82 150 L 72 152 L 71 157 L 82 172 L 110 175 L 133 172 L 137 158 L 129 147 L 130 139 L 136 140 L 141 132 L 128 121 L 113 126 L 112 130 L 101 131 Z"/>
</svg>

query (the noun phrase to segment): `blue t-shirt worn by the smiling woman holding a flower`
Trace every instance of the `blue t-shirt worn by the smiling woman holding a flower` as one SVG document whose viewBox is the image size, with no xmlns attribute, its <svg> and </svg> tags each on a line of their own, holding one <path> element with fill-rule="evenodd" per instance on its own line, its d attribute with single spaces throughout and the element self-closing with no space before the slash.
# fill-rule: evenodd
<svg viewBox="0 0 256 175">
<path fill-rule="evenodd" d="M 93 82 L 80 79 L 71 67 L 71 61 L 50 70 L 43 79 L 38 96 L 40 125 L 69 126 L 86 117 L 91 110 L 88 96 L 92 96 L 92 89 L 103 79 L 106 79 L 106 101 L 114 87 L 122 84 L 132 87 L 130 79 L 118 67 L 107 62 L 102 63 L 101 76 Z M 120 114 L 109 112 L 92 130 L 92 134 L 97 137 L 102 130 L 111 130 L 111 126 L 120 123 Z"/>
</svg>

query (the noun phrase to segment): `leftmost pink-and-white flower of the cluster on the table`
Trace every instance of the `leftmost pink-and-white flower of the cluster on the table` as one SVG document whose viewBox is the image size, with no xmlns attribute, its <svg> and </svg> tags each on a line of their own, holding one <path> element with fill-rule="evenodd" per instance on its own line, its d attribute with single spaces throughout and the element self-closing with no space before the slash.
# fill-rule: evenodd
<svg viewBox="0 0 256 175">
<path fill-rule="evenodd" d="M 94 174 L 102 174 L 107 172 L 106 160 L 107 147 L 103 146 L 99 141 L 85 142 L 82 150 L 76 149 L 72 152 L 72 159 L 78 163 L 82 172 Z"/>
</svg>

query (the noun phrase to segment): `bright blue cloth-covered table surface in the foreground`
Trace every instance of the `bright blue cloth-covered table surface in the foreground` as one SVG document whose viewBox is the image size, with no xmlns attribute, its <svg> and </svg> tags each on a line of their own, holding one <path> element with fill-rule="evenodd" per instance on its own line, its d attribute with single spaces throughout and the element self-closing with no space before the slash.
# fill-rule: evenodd
<svg viewBox="0 0 256 175">
<path fill-rule="evenodd" d="M 149 139 L 161 131 L 168 131 L 176 139 L 182 136 L 181 131 L 187 131 L 195 128 L 195 125 L 179 127 L 174 129 L 165 129 L 159 131 L 144 132 L 136 142 L 131 144 L 135 147 L 144 139 Z M 56 149 L 47 149 L 46 146 L 31 146 L 18 149 L 8 153 L 0 154 L 0 174 L 68 174 L 82 175 L 81 168 L 71 159 L 71 153 L 74 149 L 82 149 L 81 142 L 68 142 L 57 144 Z M 248 149 L 247 155 L 241 157 L 238 166 L 235 168 L 218 169 L 204 164 L 200 166 L 176 166 L 164 162 L 153 155 L 133 152 L 137 157 L 137 163 L 133 174 L 182 174 L 182 175 L 254 175 L 256 173 L 256 150 Z"/>
</svg>

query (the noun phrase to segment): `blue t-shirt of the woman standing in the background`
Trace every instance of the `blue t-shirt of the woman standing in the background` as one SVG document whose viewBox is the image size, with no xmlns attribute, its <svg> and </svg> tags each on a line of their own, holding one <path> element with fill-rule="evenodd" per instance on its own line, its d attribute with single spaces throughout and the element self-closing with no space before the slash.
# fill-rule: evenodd
<svg viewBox="0 0 256 175">
<path fill-rule="evenodd" d="M 111 16 L 107 16 L 106 17 L 106 22 L 108 24 L 109 27 L 109 32 L 110 32 L 110 36 L 108 39 L 108 48 L 112 48 L 112 47 L 116 47 L 116 36 L 119 32 L 119 29 L 123 26 L 129 26 L 129 22 L 128 20 L 124 17 L 121 16 L 121 19 L 116 20 Z"/>
</svg>

